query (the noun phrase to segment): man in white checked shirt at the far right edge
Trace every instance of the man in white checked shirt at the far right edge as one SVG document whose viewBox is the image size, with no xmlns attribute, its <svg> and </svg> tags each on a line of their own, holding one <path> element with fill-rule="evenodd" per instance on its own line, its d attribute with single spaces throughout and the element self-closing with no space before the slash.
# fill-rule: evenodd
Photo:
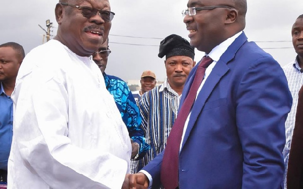
<svg viewBox="0 0 303 189">
<path fill-rule="evenodd" d="M 284 156 L 284 163 L 285 163 L 285 172 L 284 172 L 284 188 L 286 189 L 286 175 L 288 169 L 288 157 L 290 151 L 290 145 L 292 145 L 292 134 L 294 131 L 294 124 L 296 122 L 296 110 L 297 110 L 297 103 L 298 103 L 298 94 L 299 90 L 303 85 L 303 15 L 300 15 L 293 24 L 291 28 L 291 35 L 292 35 L 292 44 L 294 47 L 297 56 L 294 61 L 290 62 L 288 65 L 283 67 L 285 72 L 289 90 L 293 99 L 293 104 L 291 106 L 291 110 L 287 116 L 285 122 L 285 129 L 286 129 L 286 144 L 283 150 Z M 299 114 L 299 116 L 302 116 Z M 299 126 L 298 126 L 299 127 Z M 302 137 L 302 136 L 300 136 Z M 300 149 L 303 150 L 303 149 Z M 294 156 L 296 151 L 292 151 Z M 291 163 L 291 162 L 290 162 Z M 299 168 L 298 162 L 292 162 L 294 167 Z M 288 176 L 287 176 L 288 177 Z M 296 180 L 295 174 L 292 173 L 290 179 Z M 302 185 L 303 186 L 303 185 Z"/>
</svg>

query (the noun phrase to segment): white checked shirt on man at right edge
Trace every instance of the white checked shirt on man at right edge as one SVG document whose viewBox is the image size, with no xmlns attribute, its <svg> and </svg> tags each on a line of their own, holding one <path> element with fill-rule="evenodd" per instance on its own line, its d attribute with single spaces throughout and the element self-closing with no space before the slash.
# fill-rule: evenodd
<svg viewBox="0 0 303 189">
<path fill-rule="evenodd" d="M 290 64 L 283 67 L 284 73 L 288 81 L 288 87 L 292 96 L 292 106 L 291 110 L 288 113 L 287 119 L 285 121 L 285 135 L 286 135 L 286 144 L 283 150 L 283 157 L 285 163 L 284 171 L 284 189 L 286 189 L 286 175 L 288 167 L 288 157 L 291 145 L 291 139 L 293 134 L 294 122 L 295 122 L 295 113 L 298 103 L 298 92 L 303 85 L 303 70 L 299 67 L 298 57 Z"/>
</svg>

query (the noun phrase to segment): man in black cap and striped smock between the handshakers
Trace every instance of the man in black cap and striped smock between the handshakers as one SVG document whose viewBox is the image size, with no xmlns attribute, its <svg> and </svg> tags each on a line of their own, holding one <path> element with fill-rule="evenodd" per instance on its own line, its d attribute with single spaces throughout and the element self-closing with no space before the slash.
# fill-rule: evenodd
<svg viewBox="0 0 303 189">
<path fill-rule="evenodd" d="M 164 84 L 144 93 L 138 100 L 142 128 L 150 150 L 139 160 L 138 170 L 161 153 L 177 117 L 182 89 L 195 65 L 194 48 L 179 35 L 172 34 L 161 41 L 160 58 L 164 61 L 167 79 Z"/>
</svg>

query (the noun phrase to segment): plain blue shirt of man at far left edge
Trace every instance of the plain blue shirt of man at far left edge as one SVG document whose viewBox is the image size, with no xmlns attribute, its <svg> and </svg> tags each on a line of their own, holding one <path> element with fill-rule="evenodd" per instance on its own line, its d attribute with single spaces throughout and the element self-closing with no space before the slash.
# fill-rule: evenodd
<svg viewBox="0 0 303 189">
<path fill-rule="evenodd" d="M 13 100 L 4 93 L 0 83 L 0 169 L 8 170 L 13 137 Z"/>
</svg>

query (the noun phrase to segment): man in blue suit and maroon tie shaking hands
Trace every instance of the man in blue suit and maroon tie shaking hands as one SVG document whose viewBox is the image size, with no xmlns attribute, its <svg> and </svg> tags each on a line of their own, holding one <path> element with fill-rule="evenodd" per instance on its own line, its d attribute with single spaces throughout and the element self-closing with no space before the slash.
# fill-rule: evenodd
<svg viewBox="0 0 303 189">
<path fill-rule="evenodd" d="M 292 98 L 280 65 L 247 41 L 245 0 L 189 0 L 187 7 L 190 44 L 211 64 L 200 74 L 201 60 L 189 74 L 177 120 L 187 97 L 195 101 L 182 128 L 176 120 L 164 152 L 125 182 L 130 188 L 282 188 L 284 122 Z M 204 79 L 196 95 L 188 95 L 196 73 Z"/>
</svg>

